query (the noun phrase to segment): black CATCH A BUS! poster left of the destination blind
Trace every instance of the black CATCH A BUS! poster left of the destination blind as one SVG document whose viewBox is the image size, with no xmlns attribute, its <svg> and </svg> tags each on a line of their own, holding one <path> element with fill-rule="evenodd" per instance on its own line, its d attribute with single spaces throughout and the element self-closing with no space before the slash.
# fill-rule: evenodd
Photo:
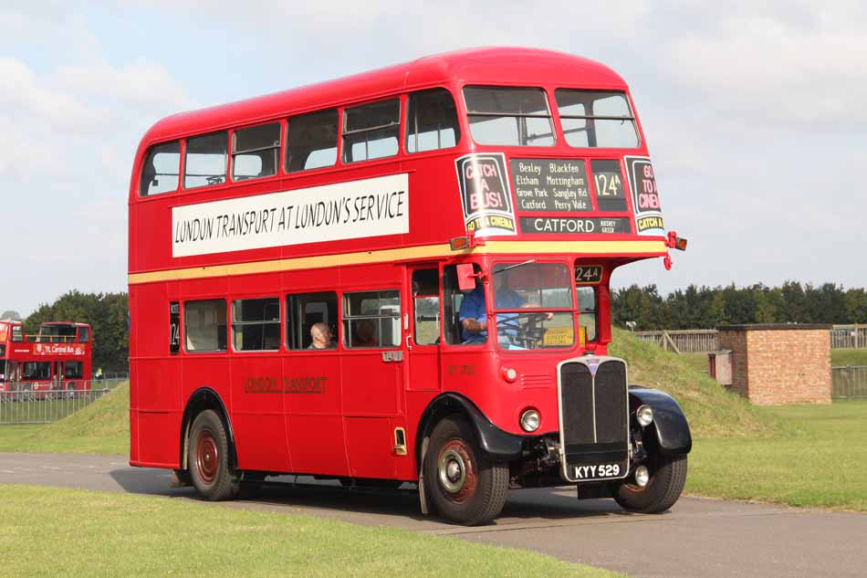
<svg viewBox="0 0 867 578">
<path fill-rule="evenodd" d="M 467 154 L 454 163 L 461 185 L 466 230 L 475 236 L 515 235 L 506 155 Z"/>
</svg>

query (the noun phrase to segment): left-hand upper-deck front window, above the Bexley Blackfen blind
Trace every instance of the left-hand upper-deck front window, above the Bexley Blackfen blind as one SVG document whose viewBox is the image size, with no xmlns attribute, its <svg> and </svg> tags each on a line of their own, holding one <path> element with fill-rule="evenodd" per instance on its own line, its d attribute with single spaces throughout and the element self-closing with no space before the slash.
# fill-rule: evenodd
<svg viewBox="0 0 867 578">
<path fill-rule="evenodd" d="M 554 145 L 554 127 L 542 89 L 466 87 L 464 99 L 475 142 Z"/>
</svg>

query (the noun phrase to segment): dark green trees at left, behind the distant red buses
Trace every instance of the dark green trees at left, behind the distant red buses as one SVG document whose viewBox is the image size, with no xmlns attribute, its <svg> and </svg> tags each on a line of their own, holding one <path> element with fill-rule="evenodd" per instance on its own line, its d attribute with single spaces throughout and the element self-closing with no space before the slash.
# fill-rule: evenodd
<svg viewBox="0 0 867 578">
<path fill-rule="evenodd" d="M 81 293 L 71 290 L 54 303 L 43 303 L 24 320 L 27 334 L 42 321 L 88 323 L 93 330 L 93 369 L 127 371 L 130 365 L 129 298 L 126 293 Z"/>
</svg>

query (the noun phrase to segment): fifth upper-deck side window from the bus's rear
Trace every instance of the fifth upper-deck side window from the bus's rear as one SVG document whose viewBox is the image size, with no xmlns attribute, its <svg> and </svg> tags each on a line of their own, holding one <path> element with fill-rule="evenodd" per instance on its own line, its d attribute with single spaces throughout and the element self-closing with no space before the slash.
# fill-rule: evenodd
<svg viewBox="0 0 867 578">
<path fill-rule="evenodd" d="M 343 113 L 343 162 L 358 163 L 397 154 L 401 101 L 381 100 Z"/>
</svg>

